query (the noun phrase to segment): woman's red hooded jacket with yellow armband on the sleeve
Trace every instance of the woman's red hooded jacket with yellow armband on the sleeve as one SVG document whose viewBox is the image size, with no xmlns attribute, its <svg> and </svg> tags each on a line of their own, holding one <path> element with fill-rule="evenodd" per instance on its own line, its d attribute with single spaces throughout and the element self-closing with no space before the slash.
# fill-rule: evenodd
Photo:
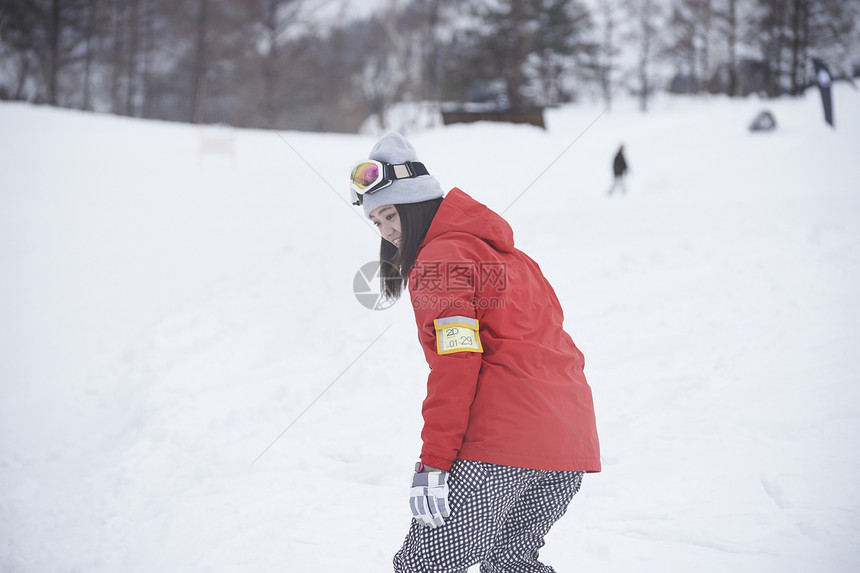
<svg viewBox="0 0 860 573">
<path fill-rule="evenodd" d="M 504 219 L 452 189 L 419 246 L 409 291 L 431 368 L 422 462 L 600 471 L 583 355 Z"/>
</svg>

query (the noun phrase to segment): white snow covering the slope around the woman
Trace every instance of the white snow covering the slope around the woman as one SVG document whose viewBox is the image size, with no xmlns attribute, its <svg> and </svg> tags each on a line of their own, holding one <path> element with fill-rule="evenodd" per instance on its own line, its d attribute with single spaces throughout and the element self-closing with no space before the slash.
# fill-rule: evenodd
<svg viewBox="0 0 860 573">
<path fill-rule="evenodd" d="M 541 556 L 855 571 L 860 93 L 835 130 L 814 91 L 635 105 L 409 134 L 586 354 L 604 471 Z M 375 137 L 12 103 L 0 132 L 0 570 L 390 570 L 427 367 L 408 304 L 352 293 Z"/>
</svg>

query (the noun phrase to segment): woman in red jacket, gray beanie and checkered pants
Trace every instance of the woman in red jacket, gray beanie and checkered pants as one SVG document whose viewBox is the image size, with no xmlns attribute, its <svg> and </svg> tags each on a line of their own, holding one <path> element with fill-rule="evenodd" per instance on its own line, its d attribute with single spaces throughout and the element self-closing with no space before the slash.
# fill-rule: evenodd
<svg viewBox="0 0 860 573">
<path fill-rule="evenodd" d="M 383 292 L 408 285 L 431 368 L 394 570 L 552 571 L 543 538 L 600 471 L 583 356 L 552 287 L 499 215 L 457 188 L 443 198 L 401 135 L 351 180 L 382 235 Z"/>
</svg>

